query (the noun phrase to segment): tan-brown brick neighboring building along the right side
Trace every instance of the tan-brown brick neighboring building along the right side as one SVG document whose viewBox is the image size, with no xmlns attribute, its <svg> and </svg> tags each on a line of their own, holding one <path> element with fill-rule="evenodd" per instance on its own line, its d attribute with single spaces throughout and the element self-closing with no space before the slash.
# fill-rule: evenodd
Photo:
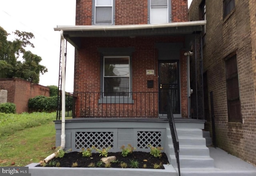
<svg viewBox="0 0 256 176">
<path fill-rule="evenodd" d="M 202 32 L 204 100 L 213 95 L 216 145 L 256 164 L 255 0 L 193 0 L 189 20 L 207 19 Z M 210 118 L 207 128 L 212 130 Z M 214 134 L 213 134 L 214 135 Z"/>
</svg>

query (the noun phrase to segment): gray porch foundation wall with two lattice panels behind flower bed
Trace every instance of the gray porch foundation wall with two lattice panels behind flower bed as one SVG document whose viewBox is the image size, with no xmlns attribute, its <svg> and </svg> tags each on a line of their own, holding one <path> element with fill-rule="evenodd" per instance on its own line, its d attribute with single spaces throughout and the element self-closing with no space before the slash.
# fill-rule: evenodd
<svg viewBox="0 0 256 176">
<path fill-rule="evenodd" d="M 149 152 L 148 145 L 166 148 L 167 120 L 109 120 L 74 118 L 66 120 L 65 150 L 80 152 L 82 148 L 107 148 L 120 152 L 122 145 L 131 144 L 136 151 Z M 55 121 L 56 146 L 61 144 L 61 121 Z"/>
</svg>

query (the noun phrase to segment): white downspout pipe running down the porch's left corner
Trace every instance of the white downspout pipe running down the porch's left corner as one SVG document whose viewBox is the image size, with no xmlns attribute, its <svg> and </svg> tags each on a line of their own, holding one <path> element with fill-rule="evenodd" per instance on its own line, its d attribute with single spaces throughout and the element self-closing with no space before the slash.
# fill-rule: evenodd
<svg viewBox="0 0 256 176">
<path fill-rule="evenodd" d="M 60 143 L 60 149 L 59 150 L 64 150 L 65 148 L 65 144 L 66 144 L 66 134 L 65 134 L 65 112 L 66 112 L 66 109 L 65 109 L 65 76 L 66 76 L 66 73 L 65 73 L 65 44 L 64 44 L 64 36 L 63 36 L 63 30 L 60 31 L 60 38 L 61 38 L 61 58 L 62 58 L 62 66 L 61 66 L 61 78 L 62 78 L 62 84 L 61 84 L 61 87 L 62 87 L 62 104 L 61 104 L 61 107 L 62 107 L 62 110 L 61 110 L 61 135 L 60 135 L 60 138 L 61 138 L 61 143 Z M 56 153 L 59 152 L 59 150 L 57 152 L 54 152 L 53 154 L 47 156 L 45 159 L 44 159 L 44 162 L 48 162 L 50 161 L 52 158 L 54 158 L 56 156 Z"/>
</svg>

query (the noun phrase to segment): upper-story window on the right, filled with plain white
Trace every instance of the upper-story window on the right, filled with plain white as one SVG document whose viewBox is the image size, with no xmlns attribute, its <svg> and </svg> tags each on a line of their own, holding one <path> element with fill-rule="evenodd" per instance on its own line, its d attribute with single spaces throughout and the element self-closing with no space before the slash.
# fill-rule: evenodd
<svg viewBox="0 0 256 176">
<path fill-rule="evenodd" d="M 148 0 L 148 4 L 150 24 L 170 22 L 170 0 Z"/>
</svg>

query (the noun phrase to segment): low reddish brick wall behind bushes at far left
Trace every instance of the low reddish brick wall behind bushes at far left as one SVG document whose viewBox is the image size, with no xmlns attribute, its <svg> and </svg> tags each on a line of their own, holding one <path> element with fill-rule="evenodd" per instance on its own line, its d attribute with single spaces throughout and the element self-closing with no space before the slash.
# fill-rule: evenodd
<svg viewBox="0 0 256 176">
<path fill-rule="evenodd" d="M 28 100 L 37 95 L 50 96 L 50 89 L 21 78 L 0 79 L 0 89 L 8 90 L 7 102 L 16 104 L 16 112 L 28 112 Z"/>
</svg>

